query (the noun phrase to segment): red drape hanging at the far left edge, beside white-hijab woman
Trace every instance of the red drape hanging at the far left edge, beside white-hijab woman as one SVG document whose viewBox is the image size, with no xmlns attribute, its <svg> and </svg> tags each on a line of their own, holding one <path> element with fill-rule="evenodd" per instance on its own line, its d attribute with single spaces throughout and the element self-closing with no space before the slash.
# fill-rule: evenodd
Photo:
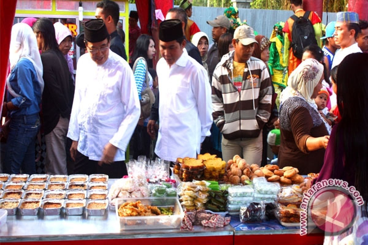
<svg viewBox="0 0 368 245">
<path fill-rule="evenodd" d="M 1 23 L 1 39 L 0 39 L 0 95 L 1 108 L 3 108 L 5 81 L 8 75 L 8 58 L 11 26 L 13 26 L 15 7 L 17 1 L 0 1 L 0 23 Z M 1 110 L 0 108 L 0 110 Z"/>
</svg>

